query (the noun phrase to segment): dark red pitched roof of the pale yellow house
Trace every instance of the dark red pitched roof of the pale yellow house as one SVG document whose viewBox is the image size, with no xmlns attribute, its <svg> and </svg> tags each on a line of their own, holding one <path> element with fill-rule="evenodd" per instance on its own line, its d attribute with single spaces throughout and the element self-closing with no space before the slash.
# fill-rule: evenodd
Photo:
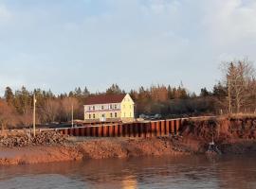
<svg viewBox="0 0 256 189">
<path fill-rule="evenodd" d="M 86 99 L 85 105 L 120 103 L 126 94 L 101 94 L 90 96 Z"/>
</svg>

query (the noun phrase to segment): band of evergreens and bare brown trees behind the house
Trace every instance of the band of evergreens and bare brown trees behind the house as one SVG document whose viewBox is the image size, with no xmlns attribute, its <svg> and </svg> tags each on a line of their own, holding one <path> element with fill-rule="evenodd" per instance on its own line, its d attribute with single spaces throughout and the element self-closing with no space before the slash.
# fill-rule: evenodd
<svg viewBox="0 0 256 189">
<path fill-rule="evenodd" d="M 255 112 L 256 80 L 253 63 L 234 60 L 223 63 L 223 77 L 212 90 L 201 89 L 200 94 L 190 93 L 182 84 L 143 86 L 131 90 L 136 102 L 136 113 L 161 114 L 163 117 L 179 117 L 221 113 Z M 13 91 L 7 87 L 0 98 L 0 124 L 2 128 L 30 126 L 32 124 L 33 95 L 37 103 L 37 124 L 66 122 L 71 119 L 73 106 L 75 119 L 83 119 L 86 99 L 98 94 L 125 94 L 118 84 L 105 92 L 90 93 L 86 87 L 75 88 L 68 94 L 53 94 L 50 90 L 28 91 L 25 86 Z"/>
</svg>

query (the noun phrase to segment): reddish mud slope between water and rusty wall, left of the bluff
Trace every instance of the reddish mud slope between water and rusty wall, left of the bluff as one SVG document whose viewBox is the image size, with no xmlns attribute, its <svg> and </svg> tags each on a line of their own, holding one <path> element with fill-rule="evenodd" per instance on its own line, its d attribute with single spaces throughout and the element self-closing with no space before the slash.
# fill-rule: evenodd
<svg viewBox="0 0 256 189">
<path fill-rule="evenodd" d="M 185 154 L 189 153 L 174 149 L 168 138 L 104 138 L 58 146 L 1 147 L 0 165 Z"/>
</svg>

